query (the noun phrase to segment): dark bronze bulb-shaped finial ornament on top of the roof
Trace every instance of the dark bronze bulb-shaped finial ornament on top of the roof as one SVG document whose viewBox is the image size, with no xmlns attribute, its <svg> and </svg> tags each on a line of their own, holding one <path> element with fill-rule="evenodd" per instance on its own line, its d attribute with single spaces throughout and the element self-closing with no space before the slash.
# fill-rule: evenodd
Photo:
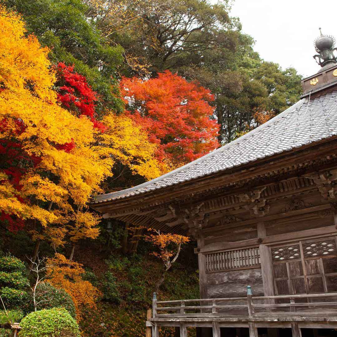
<svg viewBox="0 0 337 337">
<path fill-rule="evenodd" d="M 337 63 L 336 39 L 332 35 L 323 35 L 319 27 L 320 36 L 314 41 L 315 50 L 318 54 L 314 55 L 315 61 L 325 69 Z M 322 69 L 323 70 L 323 69 Z"/>
</svg>

